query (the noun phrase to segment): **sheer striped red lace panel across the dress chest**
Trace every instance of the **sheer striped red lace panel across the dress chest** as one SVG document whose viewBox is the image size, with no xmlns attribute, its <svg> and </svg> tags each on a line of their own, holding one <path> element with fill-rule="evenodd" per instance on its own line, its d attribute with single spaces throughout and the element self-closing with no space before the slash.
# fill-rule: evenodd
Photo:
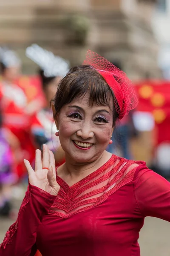
<svg viewBox="0 0 170 256">
<path fill-rule="evenodd" d="M 57 176 L 60 190 L 49 213 L 67 218 L 95 207 L 121 186 L 132 181 L 137 166 L 133 160 L 113 155 L 104 166 L 71 187 Z"/>
</svg>

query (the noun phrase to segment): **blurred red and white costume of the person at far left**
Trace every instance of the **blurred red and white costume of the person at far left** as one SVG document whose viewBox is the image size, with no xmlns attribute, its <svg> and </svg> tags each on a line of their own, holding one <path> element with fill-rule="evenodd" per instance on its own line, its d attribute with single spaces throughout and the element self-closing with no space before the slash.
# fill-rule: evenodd
<svg viewBox="0 0 170 256">
<path fill-rule="evenodd" d="M 17 175 L 23 175 L 25 166 L 23 157 L 30 162 L 34 160 L 35 147 L 30 137 L 30 116 L 26 114 L 27 98 L 23 90 L 16 84 L 0 83 L 0 104 L 3 113 L 3 125 L 14 134 L 19 143 L 23 156 L 16 162 Z"/>
</svg>

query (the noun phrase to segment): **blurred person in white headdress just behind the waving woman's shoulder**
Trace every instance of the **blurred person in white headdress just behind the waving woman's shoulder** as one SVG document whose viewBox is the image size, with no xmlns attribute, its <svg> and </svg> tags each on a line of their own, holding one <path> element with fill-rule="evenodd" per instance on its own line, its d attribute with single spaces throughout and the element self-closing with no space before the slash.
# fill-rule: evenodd
<svg viewBox="0 0 170 256">
<path fill-rule="evenodd" d="M 61 164 L 65 159 L 65 153 L 56 137 L 56 125 L 53 122 L 51 109 L 51 99 L 54 98 L 59 82 L 69 70 L 68 61 L 59 56 L 55 56 L 37 44 L 33 44 L 26 49 L 26 56 L 39 65 L 38 74 L 41 79 L 42 90 L 45 96 L 45 106 L 38 111 L 31 120 L 31 132 L 38 148 L 48 145 L 53 151 L 56 164 Z"/>
</svg>

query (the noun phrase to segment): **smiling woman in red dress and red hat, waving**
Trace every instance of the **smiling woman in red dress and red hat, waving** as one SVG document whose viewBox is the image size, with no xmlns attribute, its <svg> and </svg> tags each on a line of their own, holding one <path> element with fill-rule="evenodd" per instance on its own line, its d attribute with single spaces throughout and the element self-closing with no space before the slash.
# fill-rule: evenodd
<svg viewBox="0 0 170 256">
<path fill-rule="evenodd" d="M 0 255 L 139 256 L 145 216 L 170 221 L 170 183 L 144 162 L 105 151 L 116 119 L 137 105 L 129 79 L 94 52 L 59 84 L 54 119 L 65 163 L 47 146 L 25 160 L 29 188 Z M 13 253 L 13 254 L 12 254 Z"/>
</svg>

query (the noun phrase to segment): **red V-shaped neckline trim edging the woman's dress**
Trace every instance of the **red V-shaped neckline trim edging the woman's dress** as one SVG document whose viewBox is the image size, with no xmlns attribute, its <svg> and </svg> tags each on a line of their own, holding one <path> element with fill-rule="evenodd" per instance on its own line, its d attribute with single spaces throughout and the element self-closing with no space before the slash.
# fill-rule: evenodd
<svg viewBox="0 0 170 256">
<path fill-rule="evenodd" d="M 87 175 L 86 177 L 82 178 L 81 180 L 79 180 L 77 183 L 74 183 L 72 186 L 69 186 L 67 182 L 65 182 L 65 180 L 63 180 L 62 178 L 60 178 L 57 175 L 57 168 L 56 168 L 56 180 L 57 183 L 59 183 L 60 186 L 64 186 L 65 188 L 69 189 L 69 190 L 75 190 L 78 187 L 84 185 L 85 183 L 87 183 L 89 180 L 91 180 L 92 178 L 96 177 L 97 175 L 101 174 L 102 172 L 104 172 L 106 169 L 108 169 L 109 166 L 113 165 L 113 163 L 116 162 L 116 159 L 118 157 L 114 154 L 112 154 L 112 156 L 110 157 L 110 159 L 104 163 L 101 167 L 99 167 L 96 171 L 92 172 L 91 174 Z M 58 166 L 59 167 L 59 166 Z"/>
</svg>

